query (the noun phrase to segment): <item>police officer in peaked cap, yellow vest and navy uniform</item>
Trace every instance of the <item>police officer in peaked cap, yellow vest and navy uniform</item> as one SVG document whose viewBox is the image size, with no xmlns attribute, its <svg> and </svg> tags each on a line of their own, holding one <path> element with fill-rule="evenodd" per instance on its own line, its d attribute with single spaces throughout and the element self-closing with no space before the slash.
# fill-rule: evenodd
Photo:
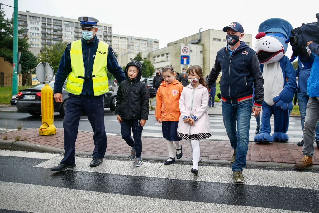
<svg viewBox="0 0 319 213">
<path fill-rule="evenodd" d="M 90 167 L 103 162 L 107 146 L 104 126 L 104 94 L 108 91 L 107 69 L 119 83 L 126 80 L 113 49 L 95 35 L 99 20 L 84 16 L 79 17 L 78 21 L 83 38 L 69 43 L 65 48 L 54 83 L 53 97 L 56 102 L 63 102 L 62 87 L 66 78 L 66 90 L 70 93 L 63 121 L 64 158 L 51 168 L 52 171 L 75 167 L 75 141 L 83 112 L 87 114 L 94 131 L 93 160 Z"/>
</svg>

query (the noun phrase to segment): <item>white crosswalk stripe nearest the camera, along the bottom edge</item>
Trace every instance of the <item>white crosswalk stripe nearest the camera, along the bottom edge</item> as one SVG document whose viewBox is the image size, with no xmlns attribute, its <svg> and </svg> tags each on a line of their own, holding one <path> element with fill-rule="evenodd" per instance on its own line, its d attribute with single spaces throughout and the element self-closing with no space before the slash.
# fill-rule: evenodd
<svg viewBox="0 0 319 213">
<path fill-rule="evenodd" d="M 127 212 L 134 209 L 139 212 L 267 212 L 294 213 L 291 210 L 279 210 L 240 205 L 167 200 L 133 195 L 101 193 L 79 189 L 59 188 L 43 185 L 0 182 L 1 208 L 19 211 L 48 212 L 88 212 L 90 207 L 97 213 Z M 14 198 L 14 199 L 12 199 Z M 98 198 L 98 199 L 97 199 Z M 174 198 L 173 198 L 174 199 Z M 67 202 L 66 202 L 67 201 Z M 101 202 L 102 201 L 102 202 Z M 59 205 L 56 205 L 56 204 Z"/>
</svg>

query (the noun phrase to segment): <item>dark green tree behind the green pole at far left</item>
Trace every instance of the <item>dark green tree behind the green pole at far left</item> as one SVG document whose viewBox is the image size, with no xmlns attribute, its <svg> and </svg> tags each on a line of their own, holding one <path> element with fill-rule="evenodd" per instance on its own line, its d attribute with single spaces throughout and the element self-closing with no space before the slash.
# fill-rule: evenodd
<svg viewBox="0 0 319 213">
<path fill-rule="evenodd" d="M 3 9 L 0 9 L 0 57 L 13 64 L 13 20 L 4 19 L 4 16 Z M 21 51 L 19 63 L 21 64 L 22 84 L 25 85 L 28 72 L 34 71 L 38 63 L 33 53 L 28 51 L 30 45 L 27 43 L 26 28 L 20 29 L 18 33 L 18 51 Z"/>
</svg>

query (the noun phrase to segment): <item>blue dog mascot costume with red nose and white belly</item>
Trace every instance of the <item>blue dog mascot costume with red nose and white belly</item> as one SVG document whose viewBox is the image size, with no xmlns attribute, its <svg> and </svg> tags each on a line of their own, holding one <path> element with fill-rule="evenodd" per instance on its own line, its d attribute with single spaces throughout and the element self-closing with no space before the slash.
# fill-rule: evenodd
<svg viewBox="0 0 319 213">
<path fill-rule="evenodd" d="M 261 130 L 254 137 L 256 143 L 289 140 L 286 132 L 297 84 L 295 69 L 285 55 L 285 41 L 291 36 L 292 29 L 288 21 L 278 18 L 265 20 L 258 28 L 255 51 L 261 63 L 265 92 Z M 271 136 L 272 114 L 274 133 Z"/>
</svg>

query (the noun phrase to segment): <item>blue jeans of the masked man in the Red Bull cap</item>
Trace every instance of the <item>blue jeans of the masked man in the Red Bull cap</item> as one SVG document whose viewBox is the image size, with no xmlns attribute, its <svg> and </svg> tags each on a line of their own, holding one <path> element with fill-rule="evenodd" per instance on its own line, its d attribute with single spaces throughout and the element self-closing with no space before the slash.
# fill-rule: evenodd
<svg viewBox="0 0 319 213">
<path fill-rule="evenodd" d="M 252 108 L 252 100 L 238 104 L 222 103 L 226 132 L 231 146 L 236 150 L 236 158 L 232 166 L 233 171 L 242 171 L 242 168 L 246 166 Z"/>
</svg>

